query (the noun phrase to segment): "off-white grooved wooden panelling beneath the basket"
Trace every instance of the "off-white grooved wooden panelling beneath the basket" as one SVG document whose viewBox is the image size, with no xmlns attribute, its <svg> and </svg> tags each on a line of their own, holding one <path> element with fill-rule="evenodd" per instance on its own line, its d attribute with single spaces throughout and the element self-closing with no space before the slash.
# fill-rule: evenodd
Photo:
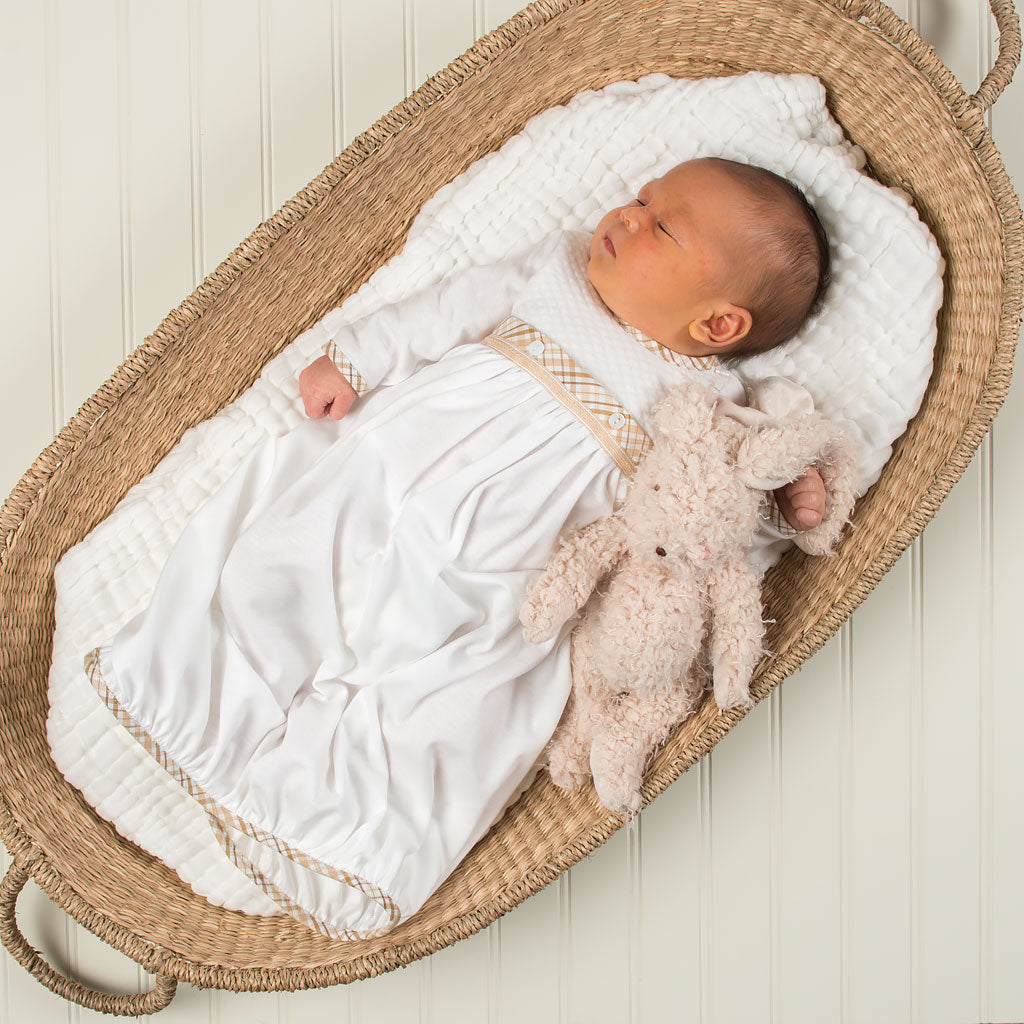
<svg viewBox="0 0 1024 1024">
<path fill-rule="evenodd" d="M 977 86 L 981 0 L 894 5 Z M 0 494 L 259 221 L 518 6 L 0 0 Z M 992 119 L 1018 187 L 1022 80 Z M 1022 445 L 1018 390 L 852 622 L 635 827 L 492 928 L 349 986 L 179 986 L 161 1019 L 1024 1019 Z M 34 886 L 20 919 L 60 968 L 147 987 Z M 0 1024 L 96 1016 L 0 957 Z"/>
</svg>

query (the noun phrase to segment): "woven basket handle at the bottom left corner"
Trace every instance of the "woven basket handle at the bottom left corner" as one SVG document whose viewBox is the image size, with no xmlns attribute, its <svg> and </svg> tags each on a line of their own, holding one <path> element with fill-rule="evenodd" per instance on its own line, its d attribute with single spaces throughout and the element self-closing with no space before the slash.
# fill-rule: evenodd
<svg viewBox="0 0 1024 1024">
<path fill-rule="evenodd" d="M 165 974 L 157 974 L 156 987 L 148 992 L 137 995 L 108 995 L 95 989 L 86 988 L 77 981 L 58 974 L 43 959 L 39 951 L 33 948 L 20 933 L 15 919 L 17 897 L 32 877 L 30 858 L 15 859 L 0 882 L 0 940 L 7 951 L 37 981 L 56 992 L 61 998 L 89 1010 L 103 1014 L 117 1014 L 122 1017 L 139 1017 L 142 1014 L 155 1014 L 163 1010 L 174 997 L 177 981 Z"/>
</svg>

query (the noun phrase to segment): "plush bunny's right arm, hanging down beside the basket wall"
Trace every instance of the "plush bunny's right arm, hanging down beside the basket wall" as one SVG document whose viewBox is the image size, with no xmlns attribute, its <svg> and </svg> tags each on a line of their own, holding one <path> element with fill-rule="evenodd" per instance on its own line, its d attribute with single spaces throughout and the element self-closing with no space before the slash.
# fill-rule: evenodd
<svg viewBox="0 0 1024 1024">
<path fill-rule="evenodd" d="M 761 588 L 745 559 L 735 557 L 712 570 L 708 590 L 715 700 L 723 710 L 735 708 L 750 702 L 751 677 L 763 653 Z"/>
</svg>

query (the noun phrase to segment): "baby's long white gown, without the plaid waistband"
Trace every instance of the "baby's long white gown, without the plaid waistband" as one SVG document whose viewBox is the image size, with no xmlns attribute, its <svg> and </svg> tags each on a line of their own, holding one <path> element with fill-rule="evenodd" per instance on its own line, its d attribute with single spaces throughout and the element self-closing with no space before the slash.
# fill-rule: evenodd
<svg viewBox="0 0 1024 1024">
<path fill-rule="evenodd" d="M 99 648 L 97 688 L 225 851 L 329 934 L 417 910 L 516 793 L 570 681 L 568 627 L 522 638 L 527 582 L 623 494 L 594 433 L 480 339 L 511 311 L 641 425 L 694 373 L 741 400 L 727 371 L 635 341 L 591 288 L 587 251 L 560 232 L 312 328 L 367 393 L 247 457 L 150 606 Z"/>
</svg>

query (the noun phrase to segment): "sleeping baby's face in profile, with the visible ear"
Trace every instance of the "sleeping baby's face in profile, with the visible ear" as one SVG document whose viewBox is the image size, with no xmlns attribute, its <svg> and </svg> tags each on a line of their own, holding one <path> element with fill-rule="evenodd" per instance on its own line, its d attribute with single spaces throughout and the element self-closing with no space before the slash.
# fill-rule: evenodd
<svg viewBox="0 0 1024 1024">
<path fill-rule="evenodd" d="M 601 218 L 591 284 L 612 312 L 668 348 L 724 353 L 750 330 L 750 314 L 729 301 L 749 205 L 713 161 L 680 164 Z"/>
</svg>

